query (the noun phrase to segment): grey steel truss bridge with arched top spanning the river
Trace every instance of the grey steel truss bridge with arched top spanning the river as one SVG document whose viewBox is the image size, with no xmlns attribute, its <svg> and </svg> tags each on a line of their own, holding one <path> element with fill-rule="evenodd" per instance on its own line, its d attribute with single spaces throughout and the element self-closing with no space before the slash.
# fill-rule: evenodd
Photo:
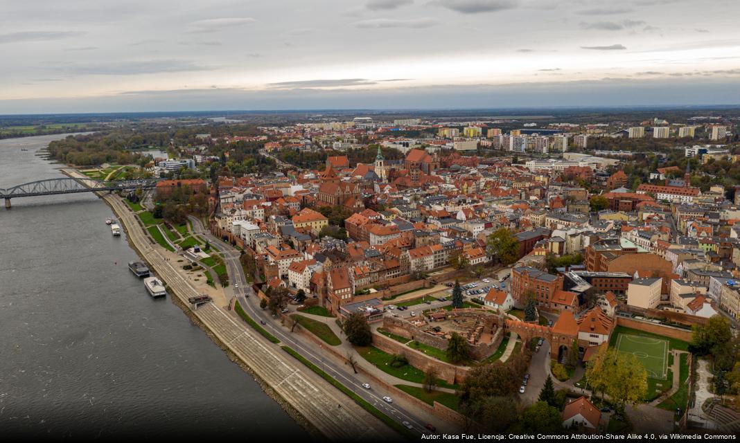
<svg viewBox="0 0 740 443">
<path fill-rule="evenodd" d="M 13 186 L 12 188 L 0 189 L 0 198 L 4 198 L 5 207 L 10 208 L 11 198 L 77 194 L 78 192 L 151 189 L 157 186 L 158 181 L 158 179 L 99 181 L 90 178 L 52 178 L 50 180 L 32 181 Z"/>
</svg>

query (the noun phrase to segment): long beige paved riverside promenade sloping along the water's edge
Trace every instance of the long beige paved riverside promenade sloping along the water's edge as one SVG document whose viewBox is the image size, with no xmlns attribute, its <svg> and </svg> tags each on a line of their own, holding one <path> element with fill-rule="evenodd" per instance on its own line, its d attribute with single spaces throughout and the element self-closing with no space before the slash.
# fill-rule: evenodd
<svg viewBox="0 0 740 443">
<path fill-rule="evenodd" d="M 74 170 L 65 170 L 72 177 L 87 178 Z M 186 280 L 164 260 L 153 245 L 139 220 L 117 195 L 101 195 L 117 214 L 126 229 L 129 241 L 141 257 L 172 290 L 172 296 L 185 305 L 201 324 L 221 344 L 247 365 L 270 390 L 287 402 L 319 433 L 334 441 L 396 441 L 400 439 L 379 419 L 360 408 L 328 382 L 318 378 L 308 368 L 293 359 L 276 345 L 268 342 L 244 322 L 238 322 L 214 303 L 197 310 L 188 297 L 198 294 Z M 341 408 L 339 408 L 341 405 Z"/>
</svg>

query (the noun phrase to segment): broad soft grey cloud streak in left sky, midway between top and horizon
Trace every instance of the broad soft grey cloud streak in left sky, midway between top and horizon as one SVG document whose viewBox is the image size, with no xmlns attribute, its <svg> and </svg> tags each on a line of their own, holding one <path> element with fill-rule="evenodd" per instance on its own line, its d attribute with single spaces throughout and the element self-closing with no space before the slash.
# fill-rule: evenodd
<svg viewBox="0 0 740 443">
<path fill-rule="evenodd" d="M 66 64 L 56 69 L 75 75 L 139 75 L 160 72 L 206 71 L 214 68 L 204 67 L 189 60 L 145 60 L 100 64 Z"/>
</svg>

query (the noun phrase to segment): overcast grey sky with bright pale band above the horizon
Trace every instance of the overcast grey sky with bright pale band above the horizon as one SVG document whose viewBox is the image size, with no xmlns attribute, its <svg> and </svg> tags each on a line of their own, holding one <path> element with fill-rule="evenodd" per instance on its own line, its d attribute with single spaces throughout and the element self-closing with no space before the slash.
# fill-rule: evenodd
<svg viewBox="0 0 740 443">
<path fill-rule="evenodd" d="M 740 2 L 0 0 L 0 114 L 740 104 Z"/>
</svg>

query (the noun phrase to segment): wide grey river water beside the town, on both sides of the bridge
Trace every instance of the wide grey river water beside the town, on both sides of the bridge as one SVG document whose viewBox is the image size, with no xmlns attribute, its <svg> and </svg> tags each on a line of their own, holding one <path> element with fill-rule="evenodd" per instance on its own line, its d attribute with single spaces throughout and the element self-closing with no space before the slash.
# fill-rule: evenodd
<svg viewBox="0 0 740 443">
<path fill-rule="evenodd" d="M 35 155 L 61 137 L 0 140 L 0 188 L 62 177 Z M 169 296 L 149 297 L 105 203 L 1 203 L 0 440 L 306 439 Z"/>
</svg>

